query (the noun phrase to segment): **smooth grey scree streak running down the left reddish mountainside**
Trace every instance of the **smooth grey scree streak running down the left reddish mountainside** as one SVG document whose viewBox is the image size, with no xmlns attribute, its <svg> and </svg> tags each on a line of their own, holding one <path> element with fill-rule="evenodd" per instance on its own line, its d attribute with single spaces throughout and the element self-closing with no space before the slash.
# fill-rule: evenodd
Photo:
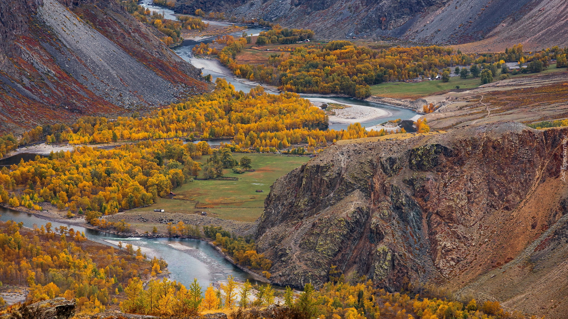
<svg viewBox="0 0 568 319">
<path fill-rule="evenodd" d="M 129 107 L 164 104 L 182 88 L 149 70 L 57 1 L 47 1 L 39 15 L 65 47 L 43 44 L 77 81 L 108 102 Z M 80 57 L 80 58 L 78 58 Z"/>
</svg>

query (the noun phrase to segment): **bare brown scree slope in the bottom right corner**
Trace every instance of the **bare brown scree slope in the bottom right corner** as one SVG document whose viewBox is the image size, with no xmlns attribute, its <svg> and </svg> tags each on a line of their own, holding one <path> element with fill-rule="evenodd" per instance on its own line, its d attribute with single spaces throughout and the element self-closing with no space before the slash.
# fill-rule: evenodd
<svg viewBox="0 0 568 319">
<path fill-rule="evenodd" d="M 565 212 L 568 202 L 560 208 Z M 568 215 L 564 215 L 513 261 L 483 274 L 458 295 L 487 296 L 503 306 L 547 318 L 568 318 Z"/>
</svg>

